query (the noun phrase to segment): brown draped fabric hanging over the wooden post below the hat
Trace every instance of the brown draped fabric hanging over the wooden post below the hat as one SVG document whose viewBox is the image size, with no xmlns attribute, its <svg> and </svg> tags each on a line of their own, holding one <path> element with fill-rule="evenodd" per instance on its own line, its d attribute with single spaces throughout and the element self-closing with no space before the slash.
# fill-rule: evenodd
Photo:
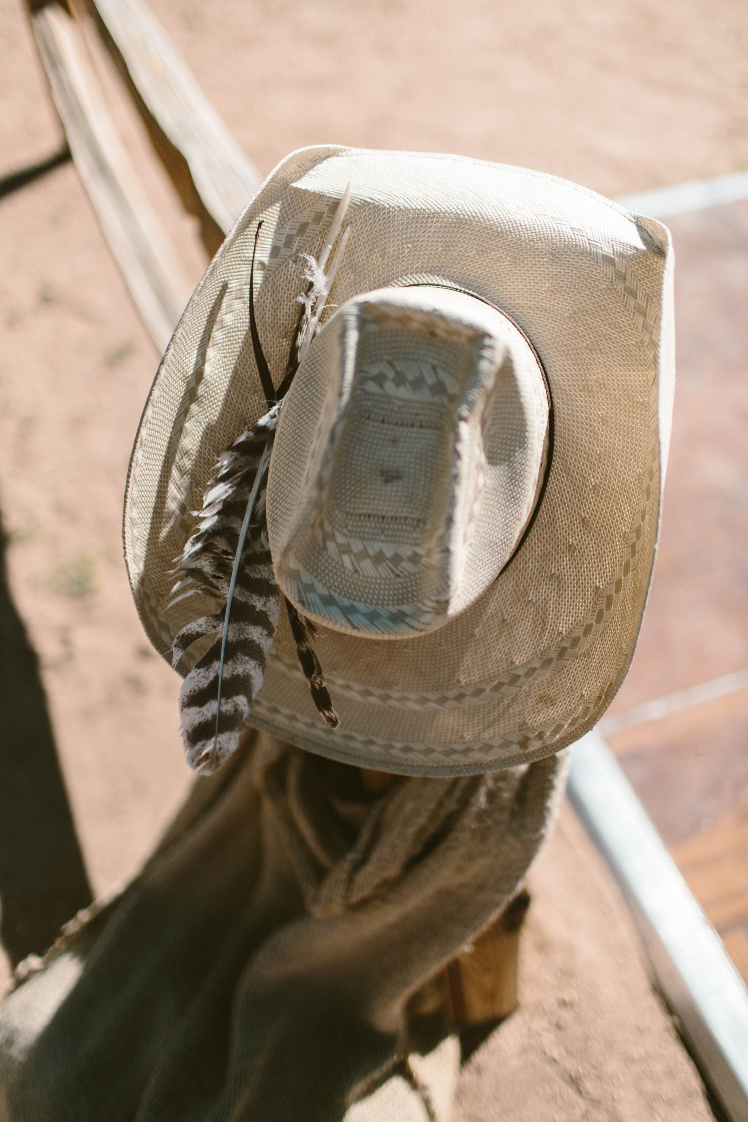
<svg viewBox="0 0 748 1122">
<path fill-rule="evenodd" d="M 517 891 L 564 755 L 375 795 L 251 733 L 129 888 L 27 962 L 0 1120 L 445 1122 L 459 1049 L 413 995 Z"/>
</svg>

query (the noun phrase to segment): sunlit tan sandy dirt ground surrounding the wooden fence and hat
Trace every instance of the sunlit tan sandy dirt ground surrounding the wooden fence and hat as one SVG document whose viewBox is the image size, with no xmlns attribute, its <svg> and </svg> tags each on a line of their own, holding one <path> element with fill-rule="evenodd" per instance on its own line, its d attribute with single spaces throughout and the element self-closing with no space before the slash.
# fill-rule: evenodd
<svg viewBox="0 0 748 1122">
<path fill-rule="evenodd" d="M 610 195 L 748 165 L 748 11 L 736 0 L 153 8 L 262 175 L 326 141 L 498 159 Z M 59 144 L 13 0 L 0 0 L 0 58 L 1 174 Z M 174 218 L 172 232 L 194 283 L 195 231 Z M 71 165 L 0 202 L 0 324 L 10 580 L 103 891 L 137 867 L 190 776 L 178 681 L 140 631 L 121 559 L 127 462 L 158 356 Z M 705 1119 L 620 902 L 601 870 L 581 875 L 595 857 L 571 818 L 567 830 L 537 870 L 523 1012 L 469 1068 L 462 1118 Z M 565 1005 L 564 986 L 576 995 Z"/>
</svg>

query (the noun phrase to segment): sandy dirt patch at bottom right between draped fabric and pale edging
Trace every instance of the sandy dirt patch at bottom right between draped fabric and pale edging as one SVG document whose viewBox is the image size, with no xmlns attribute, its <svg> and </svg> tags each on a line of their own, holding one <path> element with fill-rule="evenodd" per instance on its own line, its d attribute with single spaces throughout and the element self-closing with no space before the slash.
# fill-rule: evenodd
<svg viewBox="0 0 748 1122">
<path fill-rule="evenodd" d="M 529 886 L 520 1008 L 463 1069 L 453 1122 L 711 1119 L 628 910 L 569 807 Z"/>
</svg>

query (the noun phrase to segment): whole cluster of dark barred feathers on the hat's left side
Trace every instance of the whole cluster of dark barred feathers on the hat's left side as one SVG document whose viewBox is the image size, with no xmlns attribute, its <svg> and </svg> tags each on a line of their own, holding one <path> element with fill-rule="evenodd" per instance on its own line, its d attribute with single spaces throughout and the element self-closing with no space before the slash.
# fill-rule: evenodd
<svg viewBox="0 0 748 1122">
<path fill-rule="evenodd" d="M 187 624 L 172 644 L 173 665 L 197 640 L 214 635 L 206 653 L 184 680 L 179 693 L 182 736 L 187 761 L 196 771 L 215 771 L 239 746 L 265 678 L 280 614 L 280 590 L 273 569 L 267 532 L 267 480 L 270 449 L 283 398 L 301 359 L 320 327 L 320 312 L 345 249 L 344 231 L 327 272 L 324 266 L 351 196 L 348 185 L 320 263 L 310 258 L 307 292 L 288 365 L 276 392 L 262 353 L 255 316 L 255 255 L 262 223 L 257 227 L 249 283 L 249 327 L 258 375 L 268 412 L 219 457 L 218 470 L 203 496 L 200 525 L 187 541 L 174 570 L 178 577 L 172 605 L 196 592 L 225 600 L 218 615 Z M 278 401 L 276 401 L 278 398 Z M 246 534 L 246 536 L 244 536 Z M 312 700 L 330 728 L 339 724 L 320 660 L 312 646 L 313 624 L 286 599 L 298 660 Z"/>
</svg>

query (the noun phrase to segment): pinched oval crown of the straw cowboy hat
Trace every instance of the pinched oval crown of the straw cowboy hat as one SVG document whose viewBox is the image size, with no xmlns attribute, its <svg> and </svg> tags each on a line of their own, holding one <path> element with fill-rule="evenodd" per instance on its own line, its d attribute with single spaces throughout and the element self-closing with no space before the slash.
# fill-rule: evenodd
<svg viewBox="0 0 748 1122">
<path fill-rule="evenodd" d="M 353 297 L 278 424 L 268 531 L 281 589 L 344 634 L 443 626 L 521 539 L 547 432 L 537 357 L 498 310 L 428 285 Z"/>
</svg>

